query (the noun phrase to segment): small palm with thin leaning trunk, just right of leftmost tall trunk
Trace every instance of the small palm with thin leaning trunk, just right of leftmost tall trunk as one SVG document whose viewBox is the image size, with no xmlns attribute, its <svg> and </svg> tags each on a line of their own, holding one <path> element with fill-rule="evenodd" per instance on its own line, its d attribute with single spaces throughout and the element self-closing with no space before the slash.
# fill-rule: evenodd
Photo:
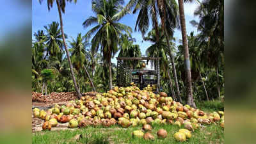
<svg viewBox="0 0 256 144">
<path fill-rule="evenodd" d="M 81 33 L 77 35 L 76 40 L 72 38 L 72 42 L 70 42 L 71 45 L 71 61 L 74 63 L 74 67 L 78 70 L 83 68 L 86 72 L 86 75 L 90 79 L 90 83 L 92 84 L 93 90 L 96 92 L 92 78 L 90 74 L 88 73 L 87 68 L 84 66 L 84 63 L 86 62 L 86 50 L 85 50 L 85 44 L 84 44 L 84 36 L 81 36 Z"/>
</svg>

